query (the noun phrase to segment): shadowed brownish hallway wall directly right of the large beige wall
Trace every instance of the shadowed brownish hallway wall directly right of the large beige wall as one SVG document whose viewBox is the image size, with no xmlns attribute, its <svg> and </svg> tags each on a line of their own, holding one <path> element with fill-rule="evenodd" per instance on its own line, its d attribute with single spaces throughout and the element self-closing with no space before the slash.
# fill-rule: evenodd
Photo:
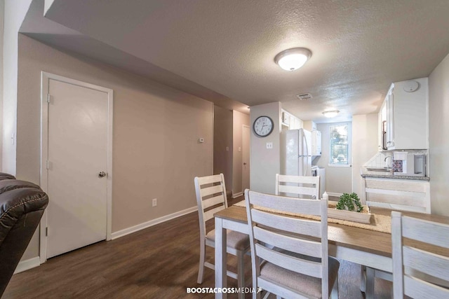
<svg viewBox="0 0 449 299">
<path fill-rule="evenodd" d="M 228 196 L 232 193 L 232 111 L 214 106 L 213 173 L 224 174 Z"/>
</svg>

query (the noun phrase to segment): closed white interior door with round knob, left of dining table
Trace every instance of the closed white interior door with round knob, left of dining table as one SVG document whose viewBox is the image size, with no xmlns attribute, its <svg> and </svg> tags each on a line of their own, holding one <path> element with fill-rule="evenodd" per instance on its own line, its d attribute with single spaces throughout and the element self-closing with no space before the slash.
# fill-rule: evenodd
<svg viewBox="0 0 449 299">
<path fill-rule="evenodd" d="M 48 93 L 46 257 L 51 258 L 107 237 L 109 123 L 107 92 L 50 78 Z"/>
</svg>

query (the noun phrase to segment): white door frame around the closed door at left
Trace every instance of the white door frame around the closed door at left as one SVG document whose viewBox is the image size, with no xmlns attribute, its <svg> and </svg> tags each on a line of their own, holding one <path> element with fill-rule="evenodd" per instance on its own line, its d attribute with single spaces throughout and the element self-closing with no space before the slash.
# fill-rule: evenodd
<svg viewBox="0 0 449 299">
<path fill-rule="evenodd" d="M 114 92 L 110 88 L 103 88 L 98 85 L 86 83 L 71 78 L 47 73 L 41 71 L 41 172 L 39 185 L 42 190 L 48 190 L 48 176 L 46 175 L 46 161 L 48 158 L 48 100 L 51 101 L 51 96 L 48 95 L 50 79 L 76 85 L 82 88 L 90 88 L 98 90 L 107 94 L 107 207 L 106 207 L 106 240 L 112 238 L 112 116 L 113 116 L 113 96 Z M 49 99 L 50 97 L 50 99 Z M 47 211 L 43 212 L 39 228 L 39 261 L 45 263 L 47 260 Z"/>
</svg>

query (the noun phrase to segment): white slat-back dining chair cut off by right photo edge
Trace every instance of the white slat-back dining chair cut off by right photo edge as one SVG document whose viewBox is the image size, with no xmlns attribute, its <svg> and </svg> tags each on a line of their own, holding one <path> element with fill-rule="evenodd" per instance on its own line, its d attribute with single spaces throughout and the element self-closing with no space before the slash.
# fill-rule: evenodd
<svg viewBox="0 0 449 299">
<path fill-rule="evenodd" d="M 449 256 L 403 240 L 449 249 L 448 235 L 449 225 L 391 212 L 394 298 L 449 298 Z"/>
</svg>

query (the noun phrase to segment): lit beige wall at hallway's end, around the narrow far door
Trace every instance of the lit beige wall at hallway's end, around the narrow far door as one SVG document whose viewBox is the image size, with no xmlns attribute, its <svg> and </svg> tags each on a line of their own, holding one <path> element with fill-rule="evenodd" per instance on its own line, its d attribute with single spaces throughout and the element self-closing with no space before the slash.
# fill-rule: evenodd
<svg viewBox="0 0 449 299">
<path fill-rule="evenodd" d="M 250 116 L 239 111 L 232 111 L 232 194 L 243 192 L 242 187 L 242 151 L 243 148 L 243 125 L 250 125 Z M 251 166 L 251 165 L 250 165 Z"/>
</svg>

